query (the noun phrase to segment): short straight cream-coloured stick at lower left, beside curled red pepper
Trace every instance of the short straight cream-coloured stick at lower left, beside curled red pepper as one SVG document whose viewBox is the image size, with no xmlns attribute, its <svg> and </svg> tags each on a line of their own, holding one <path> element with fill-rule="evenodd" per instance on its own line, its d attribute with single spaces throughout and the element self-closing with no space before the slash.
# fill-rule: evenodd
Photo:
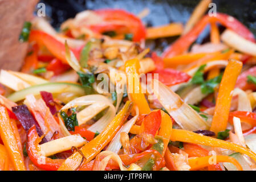
<svg viewBox="0 0 256 182">
<path fill-rule="evenodd" d="M 86 142 L 86 139 L 79 134 L 70 135 L 40 144 L 40 150 L 44 156 L 51 156 L 59 152 L 71 150 L 72 147 L 81 147 L 86 144 Z"/>
</svg>

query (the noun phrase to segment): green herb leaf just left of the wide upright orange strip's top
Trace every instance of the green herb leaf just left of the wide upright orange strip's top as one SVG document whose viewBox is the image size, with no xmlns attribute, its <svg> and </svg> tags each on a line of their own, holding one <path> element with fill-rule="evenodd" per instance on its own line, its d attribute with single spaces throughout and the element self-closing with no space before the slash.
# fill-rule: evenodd
<svg viewBox="0 0 256 182">
<path fill-rule="evenodd" d="M 214 88 L 220 84 L 222 79 L 222 75 L 219 75 L 213 79 L 210 79 L 208 81 L 205 81 L 202 85 L 201 85 L 201 92 L 203 94 L 210 94 L 214 92 Z"/>
</svg>

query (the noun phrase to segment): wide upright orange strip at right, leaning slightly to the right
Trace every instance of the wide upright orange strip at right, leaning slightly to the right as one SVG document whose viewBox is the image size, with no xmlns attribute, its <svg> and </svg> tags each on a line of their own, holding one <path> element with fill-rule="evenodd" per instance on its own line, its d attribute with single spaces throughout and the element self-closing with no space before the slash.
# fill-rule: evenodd
<svg viewBox="0 0 256 182">
<path fill-rule="evenodd" d="M 224 131 L 227 127 L 227 119 L 229 117 L 232 98 L 231 92 L 234 89 L 237 77 L 241 72 L 242 65 L 241 61 L 230 60 L 225 69 L 217 97 L 212 126 L 210 127 L 210 130 L 214 131 L 215 134 Z"/>
</svg>

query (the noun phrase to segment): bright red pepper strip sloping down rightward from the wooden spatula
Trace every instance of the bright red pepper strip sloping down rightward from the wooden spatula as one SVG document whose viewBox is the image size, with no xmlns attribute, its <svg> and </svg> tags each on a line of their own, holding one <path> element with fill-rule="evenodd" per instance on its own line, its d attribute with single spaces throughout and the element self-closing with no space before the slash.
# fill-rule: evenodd
<svg viewBox="0 0 256 182">
<path fill-rule="evenodd" d="M 63 43 L 56 40 L 53 36 L 47 34 L 46 32 L 39 30 L 31 30 L 29 36 L 29 42 L 36 42 L 39 45 L 45 46 L 48 51 L 52 53 L 55 57 L 62 60 L 63 63 L 67 64 L 65 46 Z M 74 55 L 79 59 L 79 52 L 76 49 L 72 49 L 71 51 Z"/>
</svg>

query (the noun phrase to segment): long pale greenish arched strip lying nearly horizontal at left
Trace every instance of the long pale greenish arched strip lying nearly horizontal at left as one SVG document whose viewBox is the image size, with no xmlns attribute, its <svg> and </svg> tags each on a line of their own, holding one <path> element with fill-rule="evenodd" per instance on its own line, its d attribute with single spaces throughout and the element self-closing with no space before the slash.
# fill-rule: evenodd
<svg viewBox="0 0 256 182">
<path fill-rule="evenodd" d="M 72 84 L 69 82 L 49 82 L 46 84 L 34 85 L 19 90 L 18 92 L 14 92 L 7 98 L 13 102 L 18 102 L 23 100 L 28 94 L 39 95 L 40 91 L 42 90 L 51 93 L 71 92 L 74 93 L 76 96 L 83 96 L 90 93 L 89 90 L 86 90 L 86 88 L 78 84 Z"/>
</svg>

